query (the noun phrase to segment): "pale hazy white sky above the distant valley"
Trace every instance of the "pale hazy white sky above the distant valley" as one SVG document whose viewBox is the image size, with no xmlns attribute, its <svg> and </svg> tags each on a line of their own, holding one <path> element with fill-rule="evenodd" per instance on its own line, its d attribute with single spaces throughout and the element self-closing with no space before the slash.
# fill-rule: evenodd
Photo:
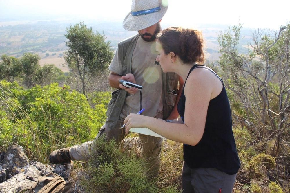
<svg viewBox="0 0 290 193">
<path fill-rule="evenodd" d="M 168 11 L 162 22 L 194 27 L 197 24 L 236 25 L 244 27 L 271 28 L 290 21 L 289 0 L 164 0 Z M 119 21 L 131 11 L 131 0 L 0 0 L 0 22 L 14 16 L 67 17 L 77 20 L 97 19 Z"/>
</svg>

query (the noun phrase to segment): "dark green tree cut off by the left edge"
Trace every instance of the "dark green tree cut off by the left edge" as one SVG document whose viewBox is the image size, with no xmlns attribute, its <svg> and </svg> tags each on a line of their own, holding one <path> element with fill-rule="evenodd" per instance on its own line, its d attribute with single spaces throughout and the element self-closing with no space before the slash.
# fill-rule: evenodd
<svg viewBox="0 0 290 193">
<path fill-rule="evenodd" d="M 13 56 L 7 56 L 6 54 L 2 55 L 1 59 L 0 79 L 6 79 L 9 82 L 13 82 L 14 78 L 21 72 L 21 65 L 18 59 Z"/>
</svg>

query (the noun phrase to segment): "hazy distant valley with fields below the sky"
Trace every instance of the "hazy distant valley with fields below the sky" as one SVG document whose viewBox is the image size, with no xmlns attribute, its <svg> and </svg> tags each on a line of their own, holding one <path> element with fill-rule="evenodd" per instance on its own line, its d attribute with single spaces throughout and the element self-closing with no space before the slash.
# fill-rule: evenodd
<svg viewBox="0 0 290 193">
<path fill-rule="evenodd" d="M 41 57 L 40 65 L 54 64 L 62 71 L 68 71 L 63 58 L 66 27 L 75 25 L 78 21 L 70 20 L 44 20 L 44 21 L 5 21 L 0 22 L 0 55 L 20 57 L 25 52 L 33 52 Z M 92 27 L 94 31 L 104 33 L 106 40 L 110 41 L 112 49 L 116 49 L 117 43 L 137 32 L 126 31 L 122 28 L 122 22 L 88 21 L 85 25 Z M 162 23 L 162 27 L 177 26 Z M 195 27 L 202 30 L 205 39 L 206 59 L 215 61 L 219 59 L 218 33 L 227 29 L 226 25 L 200 25 Z M 251 29 L 243 29 L 244 39 L 238 49 L 241 53 L 247 52 Z"/>
</svg>

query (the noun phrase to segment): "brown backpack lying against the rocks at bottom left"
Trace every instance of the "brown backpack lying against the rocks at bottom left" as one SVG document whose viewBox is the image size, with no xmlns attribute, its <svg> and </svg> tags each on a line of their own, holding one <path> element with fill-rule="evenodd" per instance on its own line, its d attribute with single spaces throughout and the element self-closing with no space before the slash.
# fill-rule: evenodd
<svg viewBox="0 0 290 193">
<path fill-rule="evenodd" d="M 65 181 L 64 178 L 55 174 L 48 173 L 41 177 L 38 181 L 25 185 L 19 193 L 72 193 L 73 188 L 70 182 Z"/>
</svg>

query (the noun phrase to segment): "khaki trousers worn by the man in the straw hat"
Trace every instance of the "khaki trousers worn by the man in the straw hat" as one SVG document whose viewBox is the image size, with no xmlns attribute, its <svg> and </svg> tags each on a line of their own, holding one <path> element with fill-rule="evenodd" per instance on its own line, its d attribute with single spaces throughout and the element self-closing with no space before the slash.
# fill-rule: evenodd
<svg viewBox="0 0 290 193">
<path fill-rule="evenodd" d="M 125 128 L 119 129 L 123 125 L 123 119 L 119 119 L 116 127 L 109 130 L 106 128 L 106 124 L 99 130 L 97 137 L 94 139 L 98 140 L 100 135 L 106 135 L 106 138 L 115 139 L 116 143 L 119 144 L 125 137 Z M 153 137 L 150 135 L 139 134 L 141 139 L 142 148 L 141 155 L 147 163 L 147 176 L 156 177 L 158 175 L 160 165 L 160 152 L 161 144 L 163 139 L 160 137 Z M 74 145 L 70 148 L 70 157 L 72 160 L 86 161 L 89 153 L 94 148 L 94 141 L 88 141 L 80 145 Z"/>
</svg>

